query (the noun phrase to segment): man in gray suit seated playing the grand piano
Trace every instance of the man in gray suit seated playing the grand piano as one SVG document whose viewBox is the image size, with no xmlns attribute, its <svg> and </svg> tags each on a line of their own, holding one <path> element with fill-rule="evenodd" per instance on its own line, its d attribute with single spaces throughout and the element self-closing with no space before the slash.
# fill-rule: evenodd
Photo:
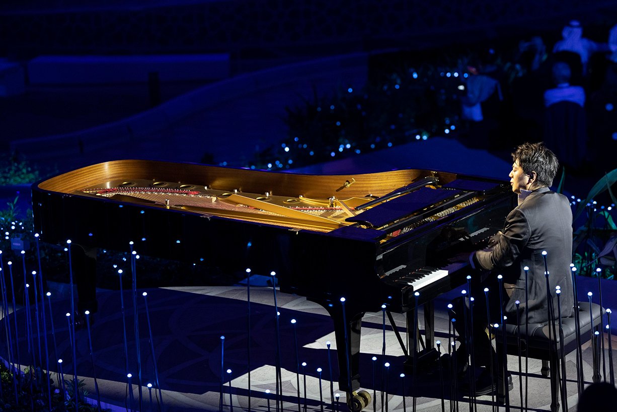
<svg viewBox="0 0 617 412">
<path fill-rule="evenodd" d="M 529 322 L 548 320 L 548 299 L 542 251 L 546 251 L 551 292 L 555 286 L 561 287 L 561 315 L 571 316 L 573 311 L 572 280 L 569 264 L 572 258 L 572 212 L 566 196 L 550 190 L 558 161 L 552 151 L 542 143 L 524 143 L 512 153 L 510 184 L 518 194 L 518 206 L 505 219 L 503 230 L 489 242 L 489 247 L 471 254 L 470 261 L 476 275 L 472 275 L 471 296 L 474 300 L 474 319 L 471 325 L 474 343 L 474 366 L 483 367 L 476 395 L 490 393 L 494 379 L 487 372 L 495 351 L 487 335 L 489 320 L 501 323 L 499 307 L 499 282 L 497 275 L 503 275 L 503 314 L 507 322 L 525 323 L 529 312 Z M 525 272 L 528 275 L 528 306 L 525 305 Z M 489 288 L 489 309 L 491 319 L 486 319 L 486 300 L 484 288 Z M 554 308 L 557 308 L 555 293 L 552 293 Z M 516 301 L 520 309 L 516 311 Z M 463 310 L 463 301 L 455 306 L 455 311 Z M 458 317 L 462 317 L 462 313 Z M 553 317 L 557 316 L 557 312 Z M 456 322 L 457 332 L 465 342 L 463 322 Z M 459 360 L 466 363 L 468 348 L 465 343 L 458 351 Z"/>
</svg>

